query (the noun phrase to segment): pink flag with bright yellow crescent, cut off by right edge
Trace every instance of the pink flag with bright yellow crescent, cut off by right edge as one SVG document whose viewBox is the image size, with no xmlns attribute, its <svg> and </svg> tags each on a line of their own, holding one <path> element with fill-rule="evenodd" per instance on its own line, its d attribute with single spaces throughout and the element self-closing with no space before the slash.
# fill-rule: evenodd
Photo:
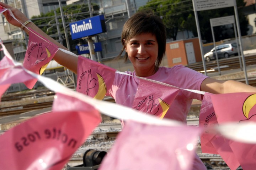
<svg viewBox="0 0 256 170">
<path fill-rule="evenodd" d="M 256 121 L 256 94 L 231 93 L 212 96 L 218 123 Z M 246 133 L 246 132 L 245 132 Z M 229 146 L 244 170 L 256 167 L 256 145 L 229 140 Z"/>
</svg>

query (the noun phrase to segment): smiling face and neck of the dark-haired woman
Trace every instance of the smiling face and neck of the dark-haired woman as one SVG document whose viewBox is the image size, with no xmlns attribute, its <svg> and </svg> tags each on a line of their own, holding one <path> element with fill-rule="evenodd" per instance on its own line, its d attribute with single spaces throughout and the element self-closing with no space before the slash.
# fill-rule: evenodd
<svg viewBox="0 0 256 170">
<path fill-rule="evenodd" d="M 126 42 L 125 50 L 139 77 L 148 77 L 155 73 L 155 61 L 158 57 L 158 42 L 151 33 L 140 34 Z"/>
</svg>

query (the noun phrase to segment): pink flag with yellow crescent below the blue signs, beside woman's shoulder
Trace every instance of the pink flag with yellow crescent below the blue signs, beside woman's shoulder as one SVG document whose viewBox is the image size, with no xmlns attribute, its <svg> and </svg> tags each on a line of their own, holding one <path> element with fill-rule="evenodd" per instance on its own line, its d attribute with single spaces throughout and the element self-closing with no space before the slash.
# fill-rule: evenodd
<svg viewBox="0 0 256 170">
<path fill-rule="evenodd" d="M 102 100 L 113 84 L 116 69 L 85 57 L 78 57 L 76 91 Z"/>
</svg>

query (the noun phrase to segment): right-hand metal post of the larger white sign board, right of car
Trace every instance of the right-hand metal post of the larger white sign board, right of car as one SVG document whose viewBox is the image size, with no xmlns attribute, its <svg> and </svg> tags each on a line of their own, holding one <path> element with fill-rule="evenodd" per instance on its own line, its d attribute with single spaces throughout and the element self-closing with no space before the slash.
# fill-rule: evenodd
<svg viewBox="0 0 256 170">
<path fill-rule="evenodd" d="M 238 10 L 237 10 L 236 5 L 234 6 L 234 10 L 235 10 L 236 27 L 237 27 L 237 30 L 238 30 L 240 51 L 241 51 L 241 55 L 242 55 L 242 63 L 243 63 L 244 73 L 245 73 L 245 82 L 246 82 L 246 84 L 249 84 L 248 77 L 247 77 L 247 71 L 246 71 L 246 63 L 245 63 L 245 58 L 244 58 L 244 51 L 242 49 L 242 41 L 241 41 L 241 34 L 240 34 L 241 31 L 240 31 L 240 25 L 239 25 L 239 20 L 238 20 Z"/>
</svg>

